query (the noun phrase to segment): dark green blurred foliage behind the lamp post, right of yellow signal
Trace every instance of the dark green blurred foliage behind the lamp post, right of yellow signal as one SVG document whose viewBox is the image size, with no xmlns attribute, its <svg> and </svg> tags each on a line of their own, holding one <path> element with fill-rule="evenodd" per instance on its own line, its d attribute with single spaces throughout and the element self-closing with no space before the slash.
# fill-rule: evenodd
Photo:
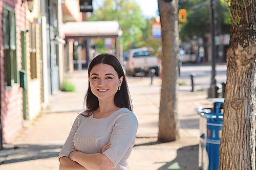
<svg viewBox="0 0 256 170">
<path fill-rule="evenodd" d="M 215 1 L 217 34 L 229 33 L 230 15 L 224 0 Z M 180 23 L 180 39 L 190 40 L 193 36 L 204 37 L 210 32 L 210 7 L 209 1 L 205 0 L 182 0 L 179 2 L 180 9 L 187 10 L 187 21 Z"/>
</svg>

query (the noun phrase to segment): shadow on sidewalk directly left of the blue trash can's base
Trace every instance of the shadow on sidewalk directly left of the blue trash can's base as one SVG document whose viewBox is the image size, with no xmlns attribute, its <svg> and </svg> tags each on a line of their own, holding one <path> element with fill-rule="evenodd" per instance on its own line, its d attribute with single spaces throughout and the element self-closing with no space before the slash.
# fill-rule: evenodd
<svg viewBox="0 0 256 170">
<path fill-rule="evenodd" d="M 167 162 L 158 170 L 179 169 L 179 170 L 196 170 L 198 169 L 198 144 L 183 147 L 177 150 L 177 157 Z"/>
</svg>

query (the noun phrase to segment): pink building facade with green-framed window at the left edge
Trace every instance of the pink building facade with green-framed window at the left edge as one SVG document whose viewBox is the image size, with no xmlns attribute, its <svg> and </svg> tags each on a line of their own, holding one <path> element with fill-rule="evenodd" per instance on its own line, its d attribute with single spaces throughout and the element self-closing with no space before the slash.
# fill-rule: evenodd
<svg viewBox="0 0 256 170">
<path fill-rule="evenodd" d="M 0 1 L 0 91 L 2 141 L 23 127 L 23 88 L 20 70 L 24 63 L 26 18 L 22 1 Z M 22 80 L 23 83 L 23 80 Z"/>
</svg>

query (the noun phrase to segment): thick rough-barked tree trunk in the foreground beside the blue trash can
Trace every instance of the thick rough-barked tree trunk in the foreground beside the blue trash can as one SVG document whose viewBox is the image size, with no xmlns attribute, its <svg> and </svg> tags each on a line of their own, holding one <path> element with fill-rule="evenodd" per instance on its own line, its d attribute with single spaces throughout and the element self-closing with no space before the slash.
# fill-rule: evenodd
<svg viewBox="0 0 256 170">
<path fill-rule="evenodd" d="M 242 2 L 231 1 L 231 12 L 239 16 L 232 15 L 227 51 L 220 170 L 255 170 L 256 1 L 245 1 L 246 10 Z"/>
</svg>

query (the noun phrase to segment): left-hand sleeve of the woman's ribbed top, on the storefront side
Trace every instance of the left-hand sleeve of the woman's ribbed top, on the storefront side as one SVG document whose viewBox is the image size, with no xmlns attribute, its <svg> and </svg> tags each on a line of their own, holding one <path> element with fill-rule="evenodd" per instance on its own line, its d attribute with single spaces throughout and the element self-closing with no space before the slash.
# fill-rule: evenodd
<svg viewBox="0 0 256 170">
<path fill-rule="evenodd" d="M 81 121 L 81 117 L 80 115 L 78 115 L 73 123 L 73 126 L 70 130 L 69 136 L 66 140 L 66 142 L 64 143 L 63 147 L 60 150 L 59 156 L 58 156 L 58 160 L 60 157 L 62 156 L 66 156 L 69 157 L 70 153 L 75 151 L 75 147 L 74 147 L 74 135 L 78 129 L 78 126 L 80 124 Z"/>
</svg>

